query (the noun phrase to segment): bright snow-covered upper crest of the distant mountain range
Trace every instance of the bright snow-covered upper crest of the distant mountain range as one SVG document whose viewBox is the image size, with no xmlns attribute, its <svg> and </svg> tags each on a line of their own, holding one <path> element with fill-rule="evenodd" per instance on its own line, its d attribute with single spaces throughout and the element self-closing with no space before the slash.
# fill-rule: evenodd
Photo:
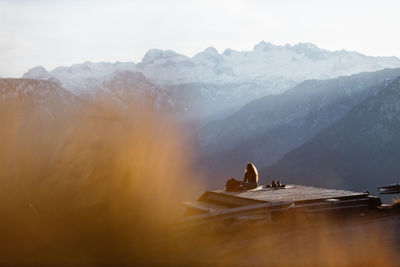
<svg viewBox="0 0 400 267">
<path fill-rule="evenodd" d="M 260 42 L 251 51 L 209 47 L 193 57 L 171 50 L 151 49 L 138 64 L 133 62 L 85 62 L 47 72 L 36 67 L 24 78 L 58 79 L 67 89 L 87 93 L 97 82 L 111 79 L 116 71 L 136 71 L 158 85 L 184 83 L 268 82 L 281 93 L 307 79 L 328 79 L 363 71 L 400 67 L 396 57 L 368 57 L 345 50 L 330 52 L 311 43 L 278 46 Z M 284 81 L 284 82 L 282 82 Z M 271 90 L 261 93 L 265 95 Z"/>
</svg>

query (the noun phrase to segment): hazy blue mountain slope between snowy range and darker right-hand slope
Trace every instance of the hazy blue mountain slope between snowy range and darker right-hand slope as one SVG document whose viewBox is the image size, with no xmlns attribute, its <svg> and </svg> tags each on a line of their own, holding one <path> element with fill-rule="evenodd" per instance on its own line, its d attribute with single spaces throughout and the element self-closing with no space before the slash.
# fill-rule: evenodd
<svg viewBox="0 0 400 267">
<path fill-rule="evenodd" d="M 241 173 L 247 161 L 273 164 L 399 75 L 400 69 L 386 69 L 309 80 L 281 95 L 252 101 L 200 131 L 201 164 L 221 177 Z"/>
</svg>

